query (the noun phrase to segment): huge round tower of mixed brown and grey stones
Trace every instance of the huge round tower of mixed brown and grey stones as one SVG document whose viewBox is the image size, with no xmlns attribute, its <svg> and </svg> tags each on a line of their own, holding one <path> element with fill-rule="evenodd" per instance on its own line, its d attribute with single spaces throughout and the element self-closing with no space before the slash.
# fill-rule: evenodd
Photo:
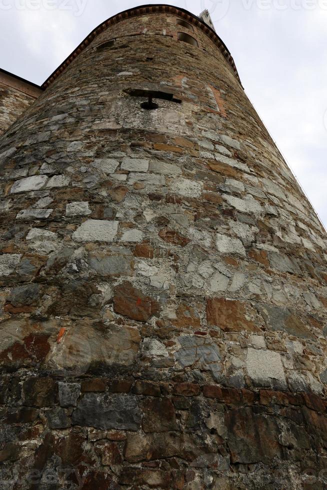
<svg viewBox="0 0 327 490">
<path fill-rule="evenodd" d="M 326 234 L 226 46 L 142 6 L 41 88 L 0 138 L 1 488 L 324 488 Z"/>
</svg>

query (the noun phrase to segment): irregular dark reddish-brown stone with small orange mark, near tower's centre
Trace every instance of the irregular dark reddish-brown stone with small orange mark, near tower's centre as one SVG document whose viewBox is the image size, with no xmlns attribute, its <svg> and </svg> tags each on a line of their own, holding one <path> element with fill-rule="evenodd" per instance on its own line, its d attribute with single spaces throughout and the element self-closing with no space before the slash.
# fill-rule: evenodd
<svg viewBox="0 0 327 490">
<path fill-rule="evenodd" d="M 130 282 L 123 282 L 115 288 L 113 307 L 116 313 L 138 321 L 147 321 L 160 311 L 155 299 L 143 294 Z"/>
</svg>

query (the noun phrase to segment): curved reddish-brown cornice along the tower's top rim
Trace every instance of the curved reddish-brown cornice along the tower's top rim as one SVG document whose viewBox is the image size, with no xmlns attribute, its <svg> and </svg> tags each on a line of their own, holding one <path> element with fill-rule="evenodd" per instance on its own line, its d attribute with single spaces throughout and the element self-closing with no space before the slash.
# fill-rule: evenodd
<svg viewBox="0 0 327 490">
<path fill-rule="evenodd" d="M 75 59 L 78 54 L 80 54 L 85 47 L 103 30 L 105 30 L 107 27 L 110 25 L 113 25 L 120 20 L 130 18 L 130 17 L 135 17 L 138 15 L 144 15 L 147 13 L 171 13 L 173 15 L 178 15 L 188 22 L 194 24 L 195 26 L 201 28 L 203 32 L 217 45 L 219 48 L 220 52 L 223 54 L 229 65 L 231 66 L 237 80 L 241 84 L 234 60 L 227 49 L 226 45 L 224 42 L 220 39 L 220 37 L 216 34 L 216 32 L 211 29 L 202 19 L 197 17 L 196 15 L 193 15 L 191 12 L 188 10 L 185 10 L 184 8 L 180 7 L 174 7 L 172 5 L 166 5 L 166 4 L 153 4 L 153 5 L 140 5 L 138 7 L 133 7 L 129 8 L 128 10 L 124 10 L 123 12 L 117 13 L 116 15 L 113 15 L 112 17 L 108 18 L 104 22 L 101 22 L 95 29 L 90 32 L 85 39 L 81 41 L 81 43 L 72 51 L 69 56 L 66 57 L 66 59 L 56 68 L 53 73 L 50 74 L 50 76 L 44 81 L 44 83 L 41 85 L 43 89 L 48 87 L 59 75 L 62 73 L 65 68 Z"/>
</svg>

